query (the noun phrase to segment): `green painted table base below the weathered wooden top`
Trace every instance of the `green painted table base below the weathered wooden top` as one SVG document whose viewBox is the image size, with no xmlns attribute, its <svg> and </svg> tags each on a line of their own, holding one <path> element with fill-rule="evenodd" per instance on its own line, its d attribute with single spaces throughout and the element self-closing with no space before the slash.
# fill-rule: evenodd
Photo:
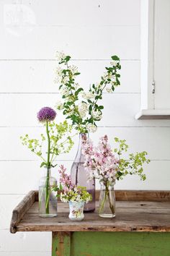
<svg viewBox="0 0 170 256">
<path fill-rule="evenodd" d="M 170 256 L 169 232 L 53 232 L 52 256 Z"/>
</svg>

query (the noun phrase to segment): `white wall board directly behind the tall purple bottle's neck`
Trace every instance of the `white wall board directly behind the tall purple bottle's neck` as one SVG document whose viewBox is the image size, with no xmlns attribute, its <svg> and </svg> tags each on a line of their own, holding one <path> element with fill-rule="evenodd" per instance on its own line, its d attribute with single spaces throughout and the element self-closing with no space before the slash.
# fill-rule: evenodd
<svg viewBox="0 0 170 256">
<path fill-rule="evenodd" d="M 99 137 L 107 134 L 110 144 L 113 146 L 113 138 L 120 137 L 127 140 L 130 151 L 146 150 L 151 159 L 169 160 L 169 127 L 103 127 L 90 136 L 97 143 Z M 0 129 L 0 160 L 37 160 L 37 156 L 29 152 L 19 140 L 20 135 L 29 134 L 37 137 L 42 128 L 1 128 Z M 58 160 L 73 160 L 78 147 L 78 136 L 75 137 L 75 145 L 70 153 L 58 156 Z M 16 150 L 17 149 L 17 150 Z"/>
</svg>

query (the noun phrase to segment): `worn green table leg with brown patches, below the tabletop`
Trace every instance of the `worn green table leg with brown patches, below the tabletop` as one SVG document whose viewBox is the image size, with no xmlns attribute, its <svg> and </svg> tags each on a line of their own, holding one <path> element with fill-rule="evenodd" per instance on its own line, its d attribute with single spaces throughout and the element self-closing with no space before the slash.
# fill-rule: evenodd
<svg viewBox="0 0 170 256">
<path fill-rule="evenodd" d="M 52 256 L 71 255 L 71 232 L 53 232 L 52 234 Z"/>
</svg>

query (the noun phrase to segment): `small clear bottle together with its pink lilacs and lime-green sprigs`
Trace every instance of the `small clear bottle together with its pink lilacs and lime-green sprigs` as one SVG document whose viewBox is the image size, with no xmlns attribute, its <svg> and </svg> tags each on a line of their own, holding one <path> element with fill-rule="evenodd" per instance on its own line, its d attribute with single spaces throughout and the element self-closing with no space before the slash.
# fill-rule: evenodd
<svg viewBox="0 0 170 256">
<path fill-rule="evenodd" d="M 99 140 L 99 145 L 94 147 L 91 140 L 85 140 L 83 153 L 85 168 L 89 179 L 99 179 L 101 192 L 99 196 L 99 216 L 104 218 L 115 217 L 115 181 L 130 174 L 138 174 L 140 179 L 145 180 L 143 163 L 149 163 L 146 151 L 130 154 L 129 158 L 122 158 L 123 151 L 128 150 L 125 140 L 115 138 L 118 148 L 112 150 L 107 135 Z M 117 154 L 117 155 L 115 155 Z"/>
</svg>

